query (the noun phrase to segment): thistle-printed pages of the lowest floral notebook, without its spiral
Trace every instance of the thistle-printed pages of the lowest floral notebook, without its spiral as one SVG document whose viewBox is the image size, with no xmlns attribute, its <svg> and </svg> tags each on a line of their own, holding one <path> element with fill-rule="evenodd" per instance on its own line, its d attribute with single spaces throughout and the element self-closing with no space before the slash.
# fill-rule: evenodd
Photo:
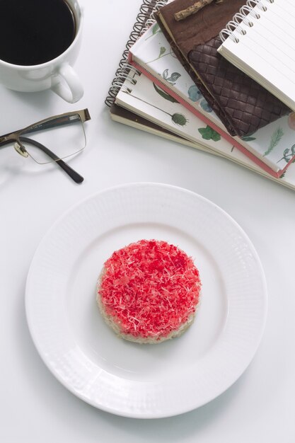
<svg viewBox="0 0 295 443">
<path fill-rule="evenodd" d="M 125 125 L 222 156 L 295 190 L 295 163 L 281 177 L 271 176 L 183 105 L 158 93 L 158 86 L 142 74 L 130 73 L 117 93 L 110 115 Z"/>
</svg>

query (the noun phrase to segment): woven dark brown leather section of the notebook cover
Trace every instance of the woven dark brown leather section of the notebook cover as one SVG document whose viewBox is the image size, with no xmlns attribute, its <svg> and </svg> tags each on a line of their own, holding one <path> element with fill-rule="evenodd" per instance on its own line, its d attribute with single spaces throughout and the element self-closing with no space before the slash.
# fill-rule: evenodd
<svg viewBox="0 0 295 443">
<path fill-rule="evenodd" d="M 189 74 L 231 135 L 253 134 L 290 112 L 284 103 L 224 59 L 217 52 L 220 45 L 217 36 L 195 46 L 188 54 L 193 68 Z"/>
</svg>

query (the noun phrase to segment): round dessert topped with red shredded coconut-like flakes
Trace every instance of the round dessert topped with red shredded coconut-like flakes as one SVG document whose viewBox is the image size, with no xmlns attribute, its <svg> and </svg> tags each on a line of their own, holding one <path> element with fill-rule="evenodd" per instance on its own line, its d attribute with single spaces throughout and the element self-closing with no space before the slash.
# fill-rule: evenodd
<svg viewBox="0 0 295 443">
<path fill-rule="evenodd" d="M 191 325 L 200 290 L 199 271 L 185 252 L 166 241 L 140 240 L 105 262 L 97 301 L 121 338 L 161 343 Z"/>
</svg>

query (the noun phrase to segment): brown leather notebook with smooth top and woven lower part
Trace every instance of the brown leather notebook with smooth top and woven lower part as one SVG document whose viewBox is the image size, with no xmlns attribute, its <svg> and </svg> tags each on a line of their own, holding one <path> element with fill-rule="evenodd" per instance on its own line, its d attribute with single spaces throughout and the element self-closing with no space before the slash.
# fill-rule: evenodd
<svg viewBox="0 0 295 443">
<path fill-rule="evenodd" d="M 219 32 L 245 0 L 204 6 L 176 21 L 174 14 L 193 0 L 174 0 L 156 13 L 156 21 L 180 62 L 231 135 L 243 137 L 287 115 L 290 110 L 256 81 L 217 52 Z"/>
</svg>

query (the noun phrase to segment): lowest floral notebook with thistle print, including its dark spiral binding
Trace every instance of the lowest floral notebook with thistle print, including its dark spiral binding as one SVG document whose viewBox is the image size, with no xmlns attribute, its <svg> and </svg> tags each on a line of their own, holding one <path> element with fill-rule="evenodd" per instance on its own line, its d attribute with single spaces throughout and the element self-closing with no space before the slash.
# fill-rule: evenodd
<svg viewBox="0 0 295 443">
<path fill-rule="evenodd" d="M 156 85 L 129 65 L 127 56 L 130 47 L 140 35 L 146 32 L 150 25 L 155 23 L 153 13 L 163 4 L 166 4 L 166 1 L 144 0 L 141 4 L 137 21 L 134 23 L 108 96 L 105 99 L 105 104 L 110 108 L 112 120 L 199 151 L 224 157 L 265 176 L 265 178 L 295 190 L 295 163 L 291 164 L 280 178 L 270 176 L 248 156 L 236 149 L 233 143 L 220 137 L 209 125 L 204 125 L 202 120 L 190 113 L 183 105 L 177 103 L 172 97 L 168 99 L 168 94 L 165 94 L 164 91 L 161 94 L 156 92 Z M 156 110 L 158 106 L 162 111 Z M 179 122 L 173 122 L 172 116 L 175 114 L 182 120 L 183 127 L 178 124 Z M 192 132 L 190 128 L 193 128 Z M 290 149 L 287 150 L 287 154 L 289 154 Z M 295 153 L 292 151 L 292 154 Z"/>
</svg>

